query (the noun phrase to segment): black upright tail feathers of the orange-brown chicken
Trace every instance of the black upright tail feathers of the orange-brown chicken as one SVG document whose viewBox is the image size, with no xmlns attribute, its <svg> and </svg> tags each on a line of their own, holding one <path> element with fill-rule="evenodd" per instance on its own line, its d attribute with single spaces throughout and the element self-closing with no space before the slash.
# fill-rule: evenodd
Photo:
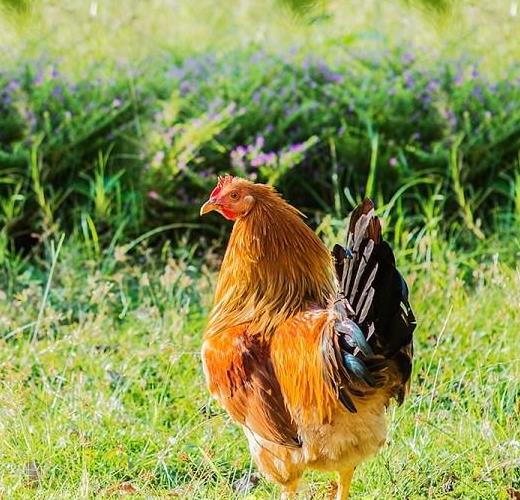
<svg viewBox="0 0 520 500">
<path fill-rule="evenodd" d="M 371 200 L 352 213 L 347 245 L 333 252 L 338 295 L 333 332 L 323 339 L 328 376 L 338 397 L 356 411 L 352 395 L 362 396 L 389 381 L 388 362 L 402 375 L 396 397 L 402 400 L 411 371 L 412 334 L 416 321 L 408 287 L 395 266 L 392 249 L 381 236 Z"/>
</svg>

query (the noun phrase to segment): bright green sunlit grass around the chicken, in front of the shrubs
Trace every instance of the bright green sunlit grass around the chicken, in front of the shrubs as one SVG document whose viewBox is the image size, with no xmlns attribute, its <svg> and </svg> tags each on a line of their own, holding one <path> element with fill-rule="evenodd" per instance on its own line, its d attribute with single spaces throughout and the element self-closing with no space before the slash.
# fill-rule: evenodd
<svg viewBox="0 0 520 500">
<path fill-rule="evenodd" d="M 249 496 L 234 489 L 254 467 L 204 385 L 218 257 L 143 245 L 96 259 L 65 241 L 47 299 L 50 249 L 0 293 L 6 498 L 275 495 L 263 480 Z M 481 245 L 486 255 L 497 243 Z M 400 255 L 419 323 L 412 392 L 390 410 L 389 443 L 358 470 L 353 498 L 505 499 L 520 489 L 519 271 L 501 253 L 443 245 L 429 264 Z M 325 498 L 331 478 L 307 479 L 307 495 Z"/>
</svg>

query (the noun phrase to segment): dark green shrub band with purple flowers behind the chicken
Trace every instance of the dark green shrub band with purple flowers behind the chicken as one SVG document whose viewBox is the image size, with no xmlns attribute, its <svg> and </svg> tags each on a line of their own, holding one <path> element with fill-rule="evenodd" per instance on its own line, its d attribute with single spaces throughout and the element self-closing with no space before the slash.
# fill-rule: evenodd
<svg viewBox="0 0 520 500">
<path fill-rule="evenodd" d="M 519 101 L 514 77 L 489 82 L 476 64 L 425 69 L 401 50 L 344 53 L 333 65 L 251 51 L 153 61 L 131 85 L 126 75 L 72 83 L 34 64 L 0 74 L 0 242 L 198 222 L 223 172 L 338 215 L 353 198 L 388 200 L 403 185 L 410 200 L 431 196 L 432 183 L 447 200 L 463 186 L 489 219 L 510 200 Z M 424 176 L 426 187 L 414 181 Z"/>
</svg>

